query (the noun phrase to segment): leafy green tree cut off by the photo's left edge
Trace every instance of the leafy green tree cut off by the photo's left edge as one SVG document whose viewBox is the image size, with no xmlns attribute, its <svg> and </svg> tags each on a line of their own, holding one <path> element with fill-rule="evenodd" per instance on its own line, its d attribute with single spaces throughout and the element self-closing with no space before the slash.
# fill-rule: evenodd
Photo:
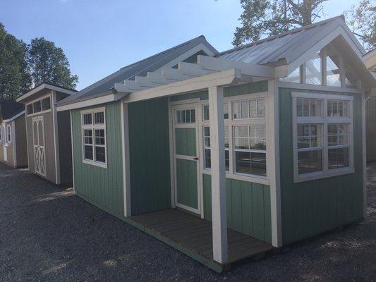
<svg viewBox="0 0 376 282">
<path fill-rule="evenodd" d="M 0 23 L 0 99 L 14 100 L 30 89 L 27 54 L 25 42 L 6 32 Z"/>
</svg>

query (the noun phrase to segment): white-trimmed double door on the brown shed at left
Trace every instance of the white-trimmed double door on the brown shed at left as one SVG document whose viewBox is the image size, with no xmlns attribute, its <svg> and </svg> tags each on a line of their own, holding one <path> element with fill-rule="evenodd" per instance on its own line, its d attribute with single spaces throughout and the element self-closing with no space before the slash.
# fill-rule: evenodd
<svg viewBox="0 0 376 282">
<path fill-rule="evenodd" d="M 44 150 L 44 119 L 43 116 L 32 118 L 32 139 L 34 141 L 35 173 L 46 176 L 46 154 Z"/>
</svg>

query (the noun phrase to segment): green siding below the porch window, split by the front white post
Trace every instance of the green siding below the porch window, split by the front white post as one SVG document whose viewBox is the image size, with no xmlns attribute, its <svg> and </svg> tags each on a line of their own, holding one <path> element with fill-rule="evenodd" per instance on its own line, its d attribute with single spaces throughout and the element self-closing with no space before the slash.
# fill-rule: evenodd
<svg viewBox="0 0 376 282">
<path fill-rule="evenodd" d="M 212 180 L 202 175 L 204 218 L 212 220 Z M 226 178 L 227 226 L 272 243 L 269 185 Z"/>
</svg>

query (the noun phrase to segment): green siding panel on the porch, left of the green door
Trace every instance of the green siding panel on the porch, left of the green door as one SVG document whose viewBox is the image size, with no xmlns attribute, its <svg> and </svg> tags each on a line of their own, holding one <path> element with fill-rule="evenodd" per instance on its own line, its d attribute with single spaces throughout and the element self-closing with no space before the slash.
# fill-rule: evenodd
<svg viewBox="0 0 376 282">
<path fill-rule="evenodd" d="M 128 118 L 132 215 L 167 209 L 171 207 L 168 99 L 128 104 Z"/>
</svg>

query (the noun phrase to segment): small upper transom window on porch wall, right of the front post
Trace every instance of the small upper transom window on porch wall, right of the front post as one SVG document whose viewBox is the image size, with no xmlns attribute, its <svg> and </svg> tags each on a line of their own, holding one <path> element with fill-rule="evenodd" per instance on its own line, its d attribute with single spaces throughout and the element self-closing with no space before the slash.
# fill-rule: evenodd
<svg viewBox="0 0 376 282">
<path fill-rule="evenodd" d="M 265 98 L 233 103 L 234 119 L 265 118 Z"/>
</svg>

